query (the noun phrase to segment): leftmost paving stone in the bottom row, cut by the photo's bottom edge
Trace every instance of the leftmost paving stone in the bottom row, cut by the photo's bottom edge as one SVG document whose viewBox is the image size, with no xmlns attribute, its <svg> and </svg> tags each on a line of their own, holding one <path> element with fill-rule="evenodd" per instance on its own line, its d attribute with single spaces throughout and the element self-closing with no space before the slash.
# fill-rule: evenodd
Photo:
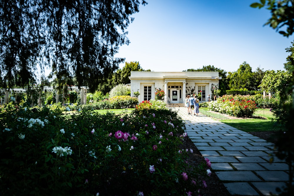
<svg viewBox="0 0 294 196">
<path fill-rule="evenodd" d="M 247 182 L 224 183 L 231 195 L 259 195 Z"/>
</svg>

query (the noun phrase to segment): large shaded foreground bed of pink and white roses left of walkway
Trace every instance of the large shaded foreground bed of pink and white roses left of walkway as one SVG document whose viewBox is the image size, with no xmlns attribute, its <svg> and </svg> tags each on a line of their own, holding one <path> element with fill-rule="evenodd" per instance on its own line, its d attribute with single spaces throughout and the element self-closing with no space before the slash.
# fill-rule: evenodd
<svg viewBox="0 0 294 196">
<path fill-rule="evenodd" d="M 183 122 L 171 110 L 123 116 L 0 108 L 0 195 L 189 195 L 206 165 L 189 168 Z"/>
</svg>

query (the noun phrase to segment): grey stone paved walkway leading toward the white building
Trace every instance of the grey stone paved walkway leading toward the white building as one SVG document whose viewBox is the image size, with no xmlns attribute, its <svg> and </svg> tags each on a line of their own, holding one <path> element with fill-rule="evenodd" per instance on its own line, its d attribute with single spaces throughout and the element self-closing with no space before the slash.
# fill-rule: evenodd
<svg viewBox="0 0 294 196">
<path fill-rule="evenodd" d="M 274 158 L 273 143 L 214 120 L 206 115 L 188 115 L 176 108 L 186 123 L 189 138 L 232 195 L 277 194 L 276 187 L 288 181 L 288 165 Z"/>
</svg>

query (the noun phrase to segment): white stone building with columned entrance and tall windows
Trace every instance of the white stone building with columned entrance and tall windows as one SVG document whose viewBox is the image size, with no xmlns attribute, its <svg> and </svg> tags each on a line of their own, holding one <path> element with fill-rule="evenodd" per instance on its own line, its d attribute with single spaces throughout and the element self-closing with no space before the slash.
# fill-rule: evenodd
<svg viewBox="0 0 294 196">
<path fill-rule="evenodd" d="M 156 89 L 164 90 L 166 103 L 183 103 L 186 95 L 201 91 L 201 102 L 211 95 L 212 85 L 218 86 L 218 72 L 153 72 L 132 71 L 131 96 L 140 93 L 139 102 L 155 98 Z"/>
</svg>

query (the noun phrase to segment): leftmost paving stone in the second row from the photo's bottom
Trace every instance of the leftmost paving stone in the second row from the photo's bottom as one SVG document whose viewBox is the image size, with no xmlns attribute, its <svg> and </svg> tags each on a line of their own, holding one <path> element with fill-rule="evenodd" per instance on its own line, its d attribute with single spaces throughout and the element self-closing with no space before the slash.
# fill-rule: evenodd
<svg viewBox="0 0 294 196">
<path fill-rule="evenodd" d="M 216 175 L 222 181 L 261 181 L 251 171 L 219 171 Z"/>
</svg>

